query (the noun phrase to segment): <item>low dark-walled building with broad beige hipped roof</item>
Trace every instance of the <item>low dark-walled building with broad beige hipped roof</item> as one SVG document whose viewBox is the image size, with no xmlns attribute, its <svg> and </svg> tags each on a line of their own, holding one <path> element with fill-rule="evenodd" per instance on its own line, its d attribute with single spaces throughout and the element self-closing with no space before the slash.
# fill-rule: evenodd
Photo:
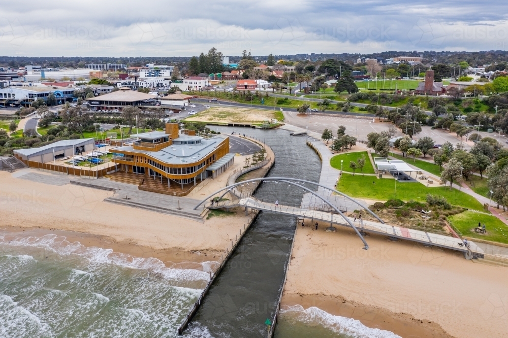
<svg viewBox="0 0 508 338">
<path fill-rule="evenodd" d="M 91 110 L 121 111 L 125 107 L 134 106 L 139 108 L 153 108 L 160 106 L 155 95 L 145 94 L 130 89 L 120 89 L 109 94 L 85 98 L 85 105 Z"/>
</svg>

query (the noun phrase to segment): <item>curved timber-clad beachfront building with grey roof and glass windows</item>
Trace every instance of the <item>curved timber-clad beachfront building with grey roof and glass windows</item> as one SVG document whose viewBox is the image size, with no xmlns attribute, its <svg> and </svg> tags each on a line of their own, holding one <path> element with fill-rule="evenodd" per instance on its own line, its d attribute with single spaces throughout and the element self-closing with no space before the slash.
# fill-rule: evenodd
<svg viewBox="0 0 508 338">
<path fill-rule="evenodd" d="M 188 190 L 208 177 L 215 178 L 234 161 L 229 153 L 229 137 L 210 139 L 196 136 L 194 130 L 178 130 L 166 123 L 165 131 L 132 134 L 132 144 L 110 150 L 120 171 L 160 182 L 160 189 Z"/>
</svg>

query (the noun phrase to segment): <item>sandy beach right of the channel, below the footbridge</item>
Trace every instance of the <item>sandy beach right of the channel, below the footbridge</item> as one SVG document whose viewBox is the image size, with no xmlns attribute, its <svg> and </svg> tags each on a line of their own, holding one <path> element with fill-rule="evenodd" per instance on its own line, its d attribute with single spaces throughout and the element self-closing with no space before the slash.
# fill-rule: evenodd
<svg viewBox="0 0 508 338">
<path fill-rule="evenodd" d="M 282 306 L 315 306 L 403 337 L 504 337 L 508 268 L 325 224 L 297 230 Z"/>
</svg>

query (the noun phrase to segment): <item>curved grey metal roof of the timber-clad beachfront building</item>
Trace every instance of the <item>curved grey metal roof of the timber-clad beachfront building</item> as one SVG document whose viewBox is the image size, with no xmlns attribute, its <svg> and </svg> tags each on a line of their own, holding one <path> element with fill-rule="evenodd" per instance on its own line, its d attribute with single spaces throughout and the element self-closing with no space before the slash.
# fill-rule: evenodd
<svg viewBox="0 0 508 338">
<path fill-rule="evenodd" d="M 122 150 L 139 154 L 147 154 L 157 159 L 158 161 L 167 164 L 195 163 L 209 156 L 209 154 L 215 150 L 220 142 L 223 142 L 227 138 L 229 138 L 227 135 L 217 135 L 210 139 L 203 139 L 201 144 L 173 144 L 169 147 L 161 149 L 160 151 L 138 150 L 134 149 L 133 146 L 116 147 L 110 151 L 115 152 L 115 150 Z"/>
</svg>

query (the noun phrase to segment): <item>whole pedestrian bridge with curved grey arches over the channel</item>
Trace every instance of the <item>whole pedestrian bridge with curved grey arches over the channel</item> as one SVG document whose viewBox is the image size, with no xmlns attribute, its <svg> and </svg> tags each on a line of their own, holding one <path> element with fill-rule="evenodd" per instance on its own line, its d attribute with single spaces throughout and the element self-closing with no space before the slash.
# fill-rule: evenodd
<svg viewBox="0 0 508 338">
<path fill-rule="evenodd" d="M 275 193 L 269 198 L 261 199 L 253 196 L 249 192 L 244 192 L 238 189 L 239 187 L 250 186 L 250 191 L 253 192 L 255 191 L 255 188 L 258 187 L 261 183 L 293 185 L 301 188 L 309 196 L 304 198 L 304 203 L 302 205 L 289 206 L 284 205 L 283 200 L 279 201 L 276 199 L 277 196 L 275 196 Z M 314 189 L 310 189 L 309 186 L 314 186 L 321 189 L 314 191 Z M 232 199 L 223 199 L 227 193 L 231 194 Z M 358 210 L 365 210 L 365 212 L 372 215 L 376 221 L 360 219 L 354 222 L 353 218 L 345 216 L 343 211 L 340 210 L 341 208 L 337 207 L 333 201 L 333 195 L 335 195 L 335 197 L 339 196 L 339 198 L 341 197 L 343 199 L 347 199 L 358 205 Z M 196 210 L 202 205 L 203 208 L 208 209 L 244 207 L 246 212 L 248 211 L 248 208 L 250 208 L 267 212 L 281 213 L 284 215 L 293 215 L 299 218 L 329 222 L 329 229 L 335 229 L 333 227 L 334 224 L 351 227 L 356 231 L 362 240 L 365 250 L 368 250 L 369 246 L 363 238 L 362 234 L 375 233 L 390 236 L 391 238 L 418 242 L 429 246 L 437 246 L 461 251 L 465 254 L 466 258 L 470 258 L 472 255 L 483 258 L 484 255 L 484 251 L 474 243 L 470 243 L 469 249 L 465 248 L 462 245 L 462 240 L 460 238 L 386 224 L 370 209 L 360 204 L 360 202 L 356 201 L 354 198 L 347 196 L 346 194 L 333 188 L 301 179 L 270 177 L 245 180 L 215 191 L 214 193 L 204 198 L 194 209 Z"/>
</svg>

